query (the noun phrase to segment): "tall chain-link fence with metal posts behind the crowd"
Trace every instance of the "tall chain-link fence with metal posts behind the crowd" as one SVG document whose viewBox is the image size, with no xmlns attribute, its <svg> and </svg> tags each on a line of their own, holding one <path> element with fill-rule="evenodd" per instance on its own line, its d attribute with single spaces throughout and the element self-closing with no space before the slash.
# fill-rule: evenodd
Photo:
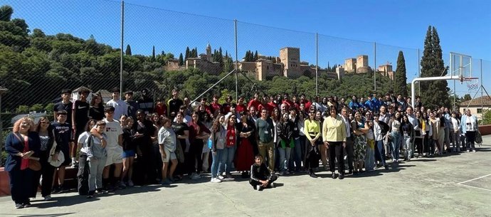
<svg viewBox="0 0 491 217">
<path fill-rule="evenodd" d="M 118 1 L 6 0 L 0 13 L 0 129 L 28 112 L 52 117 L 65 88 L 86 87 L 105 101 L 115 87 L 134 91 L 135 100 L 147 89 L 154 102 L 167 101 L 174 88 L 190 100 L 248 98 L 255 91 L 307 98 L 384 94 L 394 90 L 399 51 L 408 83 L 419 76 L 423 55 L 422 49 Z M 482 75 L 490 61 L 472 64 L 472 77 L 487 83 Z M 359 85 L 343 82 L 354 74 L 363 75 Z M 473 83 L 452 86 L 458 97 L 480 96 Z"/>
</svg>

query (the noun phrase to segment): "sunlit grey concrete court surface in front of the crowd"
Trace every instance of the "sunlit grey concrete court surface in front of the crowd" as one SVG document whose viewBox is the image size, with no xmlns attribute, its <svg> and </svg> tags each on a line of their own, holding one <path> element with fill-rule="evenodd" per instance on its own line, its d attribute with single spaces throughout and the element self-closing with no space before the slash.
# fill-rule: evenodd
<svg viewBox="0 0 491 217">
<path fill-rule="evenodd" d="M 491 136 L 475 153 L 413 159 L 344 180 L 320 172 L 283 176 L 274 189 L 208 178 L 168 187 L 133 187 L 85 199 L 75 192 L 16 210 L 0 198 L 0 216 L 491 216 Z M 42 198 L 41 198 L 42 199 Z"/>
</svg>

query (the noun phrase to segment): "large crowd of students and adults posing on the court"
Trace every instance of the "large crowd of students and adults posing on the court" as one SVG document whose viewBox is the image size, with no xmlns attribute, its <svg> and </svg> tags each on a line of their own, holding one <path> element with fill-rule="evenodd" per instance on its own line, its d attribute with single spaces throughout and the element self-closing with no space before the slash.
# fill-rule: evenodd
<svg viewBox="0 0 491 217">
<path fill-rule="evenodd" d="M 221 183 L 239 171 L 253 189 L 263 190 L 278 175 L 317 178 L 320 165 L 332 179 L 344 179 L 413 157 L 475 152 L 479 135 L 470 110 L 461 115 L 446 107 L 426 109 L 419 98 L 411 107 L 401 95 L 353 96 L 347 104 L 338 97 L 310 102 L 305 95 L 256 92 L 248 103 L 227 97 L 220 105 L 213 96 L 209 105 L 202 98 L 192 107 L 179 90 L 167 103 L 154 103 L 145 91 L 142 100 L 133 101 L 131 91 L 120 100 L 115 88 L 104 103 L 100 95 L 87 102 L 89 90 L 71 102 L 70 90 L 63 90 L 53 122 L 17 121 L 5 146 L 16 208 L 31 206 L 40 177 L 45 200 L 68 191 L 66 166 L 78 168 L 78 192 L 88 198 L 134 182 L 169 185 L 208 172 L 212 183 Z"/>
</svg>

